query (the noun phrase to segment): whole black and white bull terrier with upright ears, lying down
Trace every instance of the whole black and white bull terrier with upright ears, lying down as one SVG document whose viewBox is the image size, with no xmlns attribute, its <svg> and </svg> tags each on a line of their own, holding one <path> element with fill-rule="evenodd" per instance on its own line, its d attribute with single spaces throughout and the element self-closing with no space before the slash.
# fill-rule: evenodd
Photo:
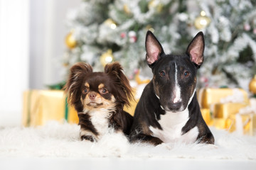
<svg viewBox="0 0 256 170">
<path fill-rule="evenodd" d="M 189 139 L 196 141 L 208 136 L 209 141 L 206 137 L 203 141 L 214 142 L 195 95 L 196 73 L 203 64 L 204 44 L 203 33 L 200 32 L 190 42 L 184 55 L 166 55 L 154 34 L 150 31 L 146 33 L 146 62 L 154 77 L 144 89 L 137 105 L 130 135 L 132 141 L 159 137 L 160 140 L 181 138 L 189 142 Z M 168 130 L 178 126 L 181 126 L 176 129 L 181 130 L 180 136 L 169 134 Z"/>
</svg>

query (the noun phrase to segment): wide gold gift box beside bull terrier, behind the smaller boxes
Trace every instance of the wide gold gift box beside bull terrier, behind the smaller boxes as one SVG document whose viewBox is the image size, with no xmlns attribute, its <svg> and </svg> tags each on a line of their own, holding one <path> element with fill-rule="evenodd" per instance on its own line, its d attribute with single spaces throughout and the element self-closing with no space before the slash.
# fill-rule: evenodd
<svg viewBox="0 0 256 170">
<path fill-rule="evenodd" d="M 244 97 L 244 102 L 249 103 L 247 92 L 243 89 L 239 89 Z M 234 93 L 234 89 L 200 89 L 198 92 L 198 102 L 201 108 L 210 108 L 211 104 L 220 103 L 222 98 L 231 96 Z"/>
</svg>

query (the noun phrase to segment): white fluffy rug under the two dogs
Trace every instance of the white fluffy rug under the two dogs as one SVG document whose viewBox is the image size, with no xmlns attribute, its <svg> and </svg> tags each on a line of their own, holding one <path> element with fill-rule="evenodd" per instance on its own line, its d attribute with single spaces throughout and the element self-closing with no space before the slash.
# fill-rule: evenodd
<svg viewBox="0 0 256 170">
<path fill-rule="evenodd" d="M 210 128 L 215 145 L 172 143 L 153 147 L 130 145 L 119 134 L 107 134 L 100 142 L 80 141 L 78 125 L 50 122 L 39 128 L 1 128 L 0 158 L 91 158 L 121 157 L 124 159 L 233 159 L 256 160 L 256 137 L 239 136 Z"/>
</svg>

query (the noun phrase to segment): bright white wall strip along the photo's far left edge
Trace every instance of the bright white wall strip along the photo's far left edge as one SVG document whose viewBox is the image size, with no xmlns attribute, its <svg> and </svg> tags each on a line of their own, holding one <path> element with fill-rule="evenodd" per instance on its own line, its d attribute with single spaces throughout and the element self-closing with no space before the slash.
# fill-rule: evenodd
<svg viewBox="0 0 256 170">
<path fill-rule="evenodd" d="M 0 0 L 0 125 L 21 118 L 28 88 L 29 1 Z"/>
</svg>

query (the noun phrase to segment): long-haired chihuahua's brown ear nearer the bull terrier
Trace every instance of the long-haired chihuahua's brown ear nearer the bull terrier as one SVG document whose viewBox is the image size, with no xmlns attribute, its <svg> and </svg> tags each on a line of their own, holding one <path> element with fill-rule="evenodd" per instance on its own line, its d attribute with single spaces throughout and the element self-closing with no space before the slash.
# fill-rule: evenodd
<svg viewBox="0 0 256 170">
<path fill-rule="evenodd" d="M 132 87 L 129 84 L 129 80 L 124 75 L 123 68 L 119 62 L 113 62 L 106 64 L 105 73 L 109 74 L 114 80 L 114 84 L 117 87 L 117 101 L 122 101 L 122 105 L 129 106 L 129 100 L 133 100 Z"/>
</svg>

